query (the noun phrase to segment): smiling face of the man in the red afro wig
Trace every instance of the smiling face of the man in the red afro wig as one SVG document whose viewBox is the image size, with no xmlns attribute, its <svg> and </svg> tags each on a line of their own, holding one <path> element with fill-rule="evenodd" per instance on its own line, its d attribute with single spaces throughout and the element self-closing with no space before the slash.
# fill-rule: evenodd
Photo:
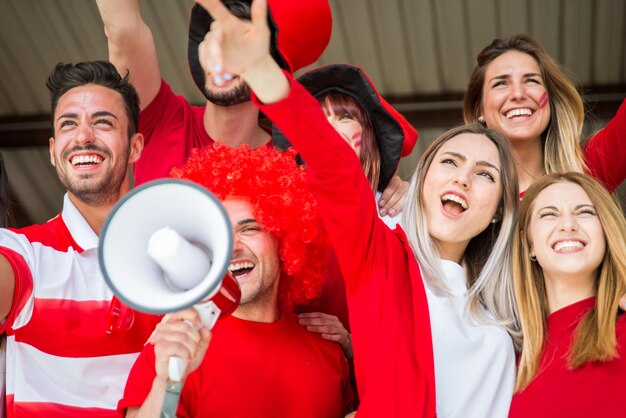
<svg viewBox="0 0 626 418">
<path fill-rule="evenodd" d="M 257 222 L 248 201 L 228 199 L 224 208 L 234 228 L 228 271 L 241 287 L 240 306 L 275 308 L 280 277 L 278 240 Z"/>
</svg>

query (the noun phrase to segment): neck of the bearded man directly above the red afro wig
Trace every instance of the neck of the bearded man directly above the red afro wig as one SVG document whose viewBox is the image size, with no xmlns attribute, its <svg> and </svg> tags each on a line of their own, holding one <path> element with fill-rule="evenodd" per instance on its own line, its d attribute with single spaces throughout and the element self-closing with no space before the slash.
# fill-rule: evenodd
<svg viewBox="0 0 626 418">
<path fill-rule="evenodd" d="M 259 126 L 259 112 L 251 101 L 233 106 L 218 106 L 207 102 L 204 128 L 213 140 L 233 148 L 243 144 L 257 148 L 271 139 Z"/>
</svg>

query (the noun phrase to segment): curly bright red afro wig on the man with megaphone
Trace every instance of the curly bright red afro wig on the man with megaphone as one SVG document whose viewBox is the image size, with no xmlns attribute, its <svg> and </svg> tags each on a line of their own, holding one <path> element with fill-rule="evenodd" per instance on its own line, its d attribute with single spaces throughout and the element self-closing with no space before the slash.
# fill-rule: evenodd
<svg viewBox="0 0 626 418">
<path fill-rule="evenodd" d="M 293 149 L 231 148 L 215 142 L 194 149 L 172 177 L 198 183 L 220 200 L 248 200 L 257 221 L 278 239 L 281 262 L 279 303 L 293 310 L 320 292 L 329 241 L 317 202 L 309 191 L 303 167 Z"/>
</svg>

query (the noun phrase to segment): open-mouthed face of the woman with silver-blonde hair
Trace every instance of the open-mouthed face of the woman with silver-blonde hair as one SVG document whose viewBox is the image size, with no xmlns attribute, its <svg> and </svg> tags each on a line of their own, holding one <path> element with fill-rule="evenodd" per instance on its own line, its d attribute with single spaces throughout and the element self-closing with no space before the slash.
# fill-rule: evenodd
<svg viewBox="0 0 626 418">
<path fill-rule="evenodd" d="M 442 258 L 460 262 L 469 241 L 494 218 L 502 196 L 500 171 L 498 148 L 484 135 L 462 133 L 437 150 L 422 200 Z"/>
</svg>

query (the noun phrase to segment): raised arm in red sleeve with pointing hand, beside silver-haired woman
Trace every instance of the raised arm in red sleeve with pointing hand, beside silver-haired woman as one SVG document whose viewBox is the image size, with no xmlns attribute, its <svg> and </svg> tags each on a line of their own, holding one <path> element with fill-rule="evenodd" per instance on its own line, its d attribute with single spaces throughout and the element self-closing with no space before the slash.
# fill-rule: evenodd
<svg viewBox="0 0 626 418">
<path fill-rule="evenodd" d="M 239 74 L 261 111 L 285 134 L 306 162 L 311 191 L 320 206 L 350 290 L 374 264 L 384 263 L 385 231 L 374 196 L 354 151 L 327 122 L 319 102 L 284 73 L 269 54 L 266 0 L 252 3 L 251 22 L 232 16 L 219 0 L 199 1 L 215 18 L 207 35 L 211 68 Z M 214 77 L 223 77 L 219 71 Z M 332 150 L 332 152 L 329 152 Z"/>
</svg>

